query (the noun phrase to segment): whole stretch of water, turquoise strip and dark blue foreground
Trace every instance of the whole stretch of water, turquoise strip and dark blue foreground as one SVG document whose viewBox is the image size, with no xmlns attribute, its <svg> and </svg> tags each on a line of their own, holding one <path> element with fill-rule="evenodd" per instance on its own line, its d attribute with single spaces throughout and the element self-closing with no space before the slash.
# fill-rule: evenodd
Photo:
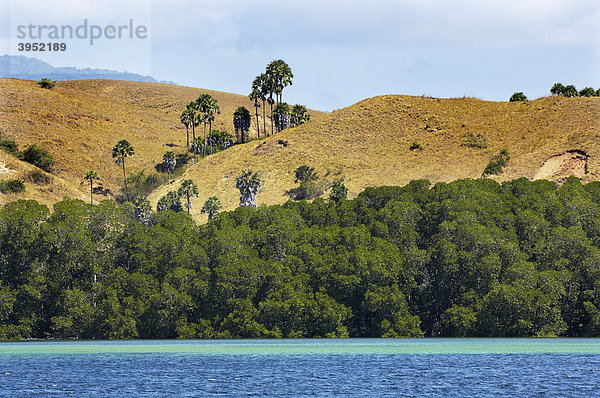
<svg viewBox="0 0 600 398">
<path fill-rule="evenodd" d="M 593 397 L 600 339 L 0 343 L 0 397 Z"/>
</svg>

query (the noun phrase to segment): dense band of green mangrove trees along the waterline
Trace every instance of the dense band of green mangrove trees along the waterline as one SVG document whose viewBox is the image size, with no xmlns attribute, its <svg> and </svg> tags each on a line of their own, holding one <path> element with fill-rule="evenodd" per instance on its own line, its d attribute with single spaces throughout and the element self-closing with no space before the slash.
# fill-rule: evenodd
<svg viewBox="0 0 600 398">
<path fill-rule="evenodd" d="M 197 226 L 0 210 L 0 338 L 600 336 L 600 182 L 368 188 Z"/>
</svg>

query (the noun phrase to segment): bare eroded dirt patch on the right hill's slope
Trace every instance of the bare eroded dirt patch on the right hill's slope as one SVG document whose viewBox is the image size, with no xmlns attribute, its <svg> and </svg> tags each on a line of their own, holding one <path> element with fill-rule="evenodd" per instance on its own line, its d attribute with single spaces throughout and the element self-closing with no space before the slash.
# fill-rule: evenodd
<svg viewBox="0 0 600 398">
<path fill-rule="evenodd" d="M 569 176 L 583 177 L 588 173 L 588 154 L 575 149 L 548 158 L 535 172 L 533 179 L 562 181 Z"/>
</svg>

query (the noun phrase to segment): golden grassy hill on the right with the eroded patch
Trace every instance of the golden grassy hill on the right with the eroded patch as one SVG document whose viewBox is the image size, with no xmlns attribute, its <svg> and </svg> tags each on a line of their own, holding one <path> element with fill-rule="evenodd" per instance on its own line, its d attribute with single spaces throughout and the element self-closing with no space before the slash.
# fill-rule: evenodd
<svg viewBox="0 0 600 398">
<path fill-rule="evenodd" d="M 486 137 L 486 149 L 463 145 L 467 134 Z M 585 152 L 584 180 L 600 175 L 600 99 L 547 97 L 528 102 L 486 102 L 474 98 L 435 99 L 381 96 L 337 110 L 265 140 L 240 145 L 200 161 L 182 178 L 194 179 L 200 195 L 192 214 L 208 196 L 224 209 L 238 204 L 235 177 L 240 170 L 261 171 L 259 204 L 282 203 L 294 184 L 294 169 L 316 167 L 328 181 L 343 177 L 351 197 L 368 186 L 403 185 L 478 178 L 491 156 L 506 148 L 511 160 L 498 180 L 532 178 L 548 158 L 569 150 Z M 278 140 L 288 141 L 287 146 Z M 422 150 L 410 150 L 413 142 Z M 578 169 L 575 168 L 575 171 Z M 570 169 L 545 173 L 561 180 Z M 170 189 L 161 187 L 155 203 Z"/>
</svg>

